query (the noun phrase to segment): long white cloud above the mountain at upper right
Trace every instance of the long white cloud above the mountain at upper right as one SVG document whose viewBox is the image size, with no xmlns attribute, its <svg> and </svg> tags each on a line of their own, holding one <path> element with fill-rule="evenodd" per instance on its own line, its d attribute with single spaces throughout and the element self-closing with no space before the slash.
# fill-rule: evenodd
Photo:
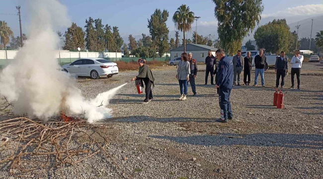
<svg viewBox="0 0 323 179">
<path fill-rule="evenodd" d="M 316 15 L 323 14 L 323 4 L 308 4 L 290 7 L 272 14 L 262 14 L 261 17 L 286 17 L 296 15 Z"/>
</svg>

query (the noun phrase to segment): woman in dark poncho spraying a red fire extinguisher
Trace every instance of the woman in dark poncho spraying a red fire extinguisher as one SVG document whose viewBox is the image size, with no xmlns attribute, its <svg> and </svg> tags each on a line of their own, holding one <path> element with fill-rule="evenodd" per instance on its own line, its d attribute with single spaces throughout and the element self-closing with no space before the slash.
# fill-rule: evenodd
<svg viewBox="0 0 323 179">
<path fill-rule="evenodd" d="M 143 82 L 145 83 L 146 89 L 146 98 L 143 104 L 148 104 L 151 100 L 153 100 L 153 92 L 152 86 L 155 87 L 155 78 L 153 76 L 152 71 L 149 69 L 149 66 L 145 64 L 146 60 L 139 59 L 139 75 L 131 79 L 131 81 L 140 80 L 140 86 L 144 87 Z"/>
</svg>

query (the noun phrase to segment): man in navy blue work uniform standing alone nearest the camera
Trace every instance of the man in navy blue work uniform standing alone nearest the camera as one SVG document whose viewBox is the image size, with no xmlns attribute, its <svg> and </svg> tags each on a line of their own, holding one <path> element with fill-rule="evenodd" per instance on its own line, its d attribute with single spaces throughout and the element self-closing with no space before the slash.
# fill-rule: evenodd
<svg viewBox="0 0 323 179">
<path fill-rule="evenodd" d="M 231 110 L 230 94 L 233 87 L 233 62 L 226 57 L 223 49 L 216 51 L 218 59 L 221 59 L 218 65 L 218 81 L 215 88 L 219 88 L 219 104 L 221 108 L 221 118 L 217 122 L 228 122 L 233 118 Z"/>
</svg>

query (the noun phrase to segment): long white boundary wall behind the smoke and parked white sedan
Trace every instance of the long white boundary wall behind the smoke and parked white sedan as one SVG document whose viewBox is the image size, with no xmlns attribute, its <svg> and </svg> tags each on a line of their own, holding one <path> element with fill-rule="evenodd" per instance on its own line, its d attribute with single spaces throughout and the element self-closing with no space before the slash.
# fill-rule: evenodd
<svg viewBox="0 0 323 179">
<path fill-rule="evenodd" d="M 14 59 L 17 50 L 7 50 L 7 59 Z M 56 51 L 55 58 L 79 58 L 79 52 Z M 121 58 L 121 52 L 80 52 L 81 58 Z M 0 59 L 5 58 L 5 51 L 0 50 Z"/>
</svg>

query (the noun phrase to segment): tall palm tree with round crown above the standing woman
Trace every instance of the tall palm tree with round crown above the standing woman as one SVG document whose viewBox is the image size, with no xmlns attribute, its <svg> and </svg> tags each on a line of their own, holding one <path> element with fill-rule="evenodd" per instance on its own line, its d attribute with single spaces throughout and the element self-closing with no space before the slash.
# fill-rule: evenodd
<svg viewBox="0 0 323 179">
<path fill-rule="evenodd" d="M 194 12 L 189 11 L 189 6 L 186 7 L 185 4 L 182 4 L 177 8 L 177 11 L 173 15 L 173 22 L 176 28 L 183 32 L 184 39 L 184 52 L 186 50 L 185 43 L 185 32 L 191 30 L 191 25 L 194 22 Z"/>
</svg>

